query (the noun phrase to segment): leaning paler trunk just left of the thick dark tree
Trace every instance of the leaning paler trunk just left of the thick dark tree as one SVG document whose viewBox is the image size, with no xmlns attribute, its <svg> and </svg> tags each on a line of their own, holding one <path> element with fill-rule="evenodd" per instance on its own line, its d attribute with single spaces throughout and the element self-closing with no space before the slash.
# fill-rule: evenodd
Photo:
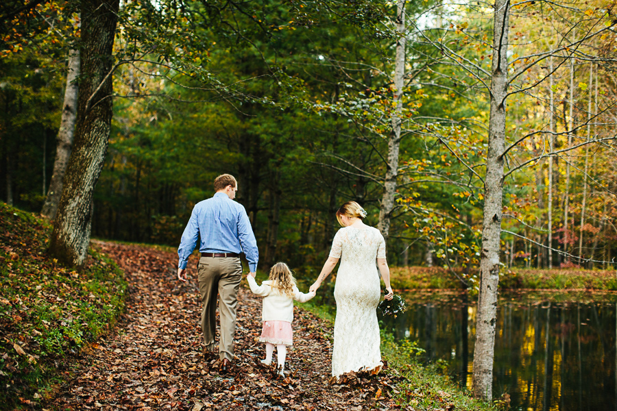
<svg viewBox="0 0 617 411">
<path fill-rule="evenodd" d="M 62 104 L 62 119 L 60 129 L 56 137 L 56 160 L 53 160 L 53 173 L 47 190 L 47 197 L 43 210 L 40 214 L 48 219 L 55 219 L 58 211 L 58 202 L 62 195 L 62 183 L 66 165 L 69 164 L 71 149 L 73 149 L 73 136 L 75 131 L 75 119 L 77 118 L 77 94 L 79 86 L 77 77 L 80 75 L 80 51 L 69 51 L 69 73 L 66 75 L 66 89 L 64 90 L 64 103 Z"/>
</svg>

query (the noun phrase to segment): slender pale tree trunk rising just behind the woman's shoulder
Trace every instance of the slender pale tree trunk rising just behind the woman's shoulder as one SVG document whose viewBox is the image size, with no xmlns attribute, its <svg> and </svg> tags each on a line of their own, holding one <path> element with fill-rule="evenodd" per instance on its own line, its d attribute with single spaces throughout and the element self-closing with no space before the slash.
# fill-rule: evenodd
<svg viewBox="0 0 617 411">
<path fill-rule="evenodd" d="M 377 228 L 388 240 L 390 232 L 391 212 L 394 210 L 394 196 L 396 195 L 396 178 L 398 177 L 398 150 L 400 147 L 400 131 L 402 116 L 402 94 L 405 75 L 405 0 L 396 2 L 396 60 L 394 62 L 394 102 L 396 108 L 392 114 L 392 132 L 388 139 L 388 158 L 387 170 L 384 180 L 383 196 L 381 197 L 381 208 L 379 210 L 379 222 Z"/>
</svg>

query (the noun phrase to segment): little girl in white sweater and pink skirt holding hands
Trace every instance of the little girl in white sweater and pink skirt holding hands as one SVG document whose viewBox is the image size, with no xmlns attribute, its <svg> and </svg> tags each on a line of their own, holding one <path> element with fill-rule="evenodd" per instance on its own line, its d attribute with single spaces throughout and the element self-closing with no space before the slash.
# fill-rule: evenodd
<svg viewBox="0 0 617 411">
<path fill-rule="evenodd" d="M 278 262 L 270 269 L 269 279 L 261 286 L 255 282 L 255 274 L 247 275 L 251 291 L 264 297 L 261 319 L 263 329 L 260 341 L 266 343 L 266 358 L 261 360 L 263 364 L 270 365 L 272 353 L 276 345 L 278 356 L 278 373 L 285 377 L 285 356 L 287 345 L 292 345 L 291 321 L 293 320 L 293 300 L 305 303 L 315 297 L 315 292 L 304 294 L 295 285 L 295 278 L 291 270 L 284 262 Z"/>
</svg>

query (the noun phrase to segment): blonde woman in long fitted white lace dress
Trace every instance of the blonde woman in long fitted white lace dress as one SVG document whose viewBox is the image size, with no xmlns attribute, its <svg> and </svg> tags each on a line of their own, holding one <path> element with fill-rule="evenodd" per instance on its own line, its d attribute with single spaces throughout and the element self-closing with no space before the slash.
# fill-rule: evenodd
<svg viewBox="0 0 617 411">
<path fill-rule="evenodd" d="M 310 292 L 317 290 L 342 258 L 334 292 L 337 301 L 332 349 L 334 376 L 374 369 L 382 364 L 376 311 L 381 292 L 375 261 L 386 285 L 385 298 L 392 299 L 394 293 L 390 287 L 385 241 L 378 229 L 363 223 L 365 216 L 365 210 L 355 201 L 339 208 L 337 220 L 343 228 L 332 241 L 330 257 L 317 281 L 309 288 Z"/>
</svg>

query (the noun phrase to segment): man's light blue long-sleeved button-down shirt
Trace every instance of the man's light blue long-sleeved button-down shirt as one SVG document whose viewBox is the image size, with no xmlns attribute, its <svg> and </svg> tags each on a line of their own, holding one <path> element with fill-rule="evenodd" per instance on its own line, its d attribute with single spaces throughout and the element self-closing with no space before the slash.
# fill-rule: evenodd
<svg viewBox="0 0 617 411">
<path fill-rule="evenodd" d="M 178 247 L 178 268 L 186 269 L 186 261 L 197 245 L 197 237 L 201 237 L 200 252 L 243 252 L 251 273 L 257 270 L 259 251 L 246 211 L 224 192 L 217 192 L 193 208 Z"/>
</svg>

